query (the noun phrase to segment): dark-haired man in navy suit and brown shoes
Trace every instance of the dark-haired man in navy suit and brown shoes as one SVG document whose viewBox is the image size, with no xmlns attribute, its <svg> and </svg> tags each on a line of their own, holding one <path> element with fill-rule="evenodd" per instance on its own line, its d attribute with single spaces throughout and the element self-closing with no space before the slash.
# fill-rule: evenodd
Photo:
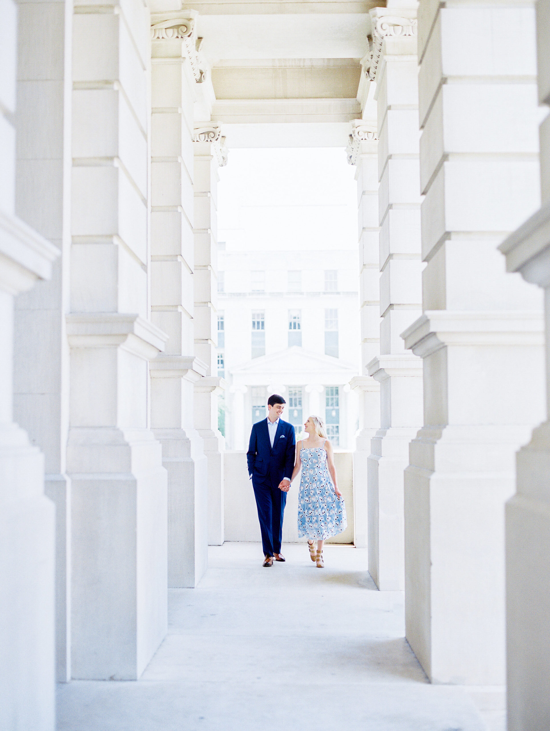
<svg viewBox="0 0 550 731">
<path fill-rule="evenodd" d="M 283 515 L 286 492 L 280 488 L 290 486 L 294 469 L 296 434 L 294 426 L 280 417 L 286 401 L 274 393 L 267 401 L 267 419 L 253 425 L 246 458 L 248 474 L 252 480 L 264 548 L 264 567 L 275 561 L 284 561 L 280 553 L 283 539 Z"/>
</svg>

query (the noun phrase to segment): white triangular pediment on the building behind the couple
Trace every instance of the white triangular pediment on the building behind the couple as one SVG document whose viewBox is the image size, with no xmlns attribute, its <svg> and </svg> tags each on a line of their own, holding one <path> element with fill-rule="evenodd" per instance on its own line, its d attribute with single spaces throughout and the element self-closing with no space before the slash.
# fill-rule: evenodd
<svg viewBox="0 0 550 731">
<path fill-rule="evenodd" d="M 241 366 L 235 366 L 229 371 L 232 376 L 240 380 L 242 376 L 264 376 L 264 380 L 276 379 L 281 382 L 311 382 L 320 380 L 328 382 L 347 382 L 358 372 L 351 363 L 330 355 L 305 350 L 299 346 L 292 346 L 270 355 L 248 360 Z M 316 377 L 318 376 L 318 377 Z"/>
</svg>

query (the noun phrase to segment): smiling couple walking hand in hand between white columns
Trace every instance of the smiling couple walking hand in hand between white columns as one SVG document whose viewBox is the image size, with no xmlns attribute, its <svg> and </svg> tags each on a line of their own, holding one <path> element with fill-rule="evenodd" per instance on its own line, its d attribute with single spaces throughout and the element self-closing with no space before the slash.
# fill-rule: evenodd
<svg viewBox="0 0 550 731">
<path fill-rule="evenodd" d="M 332 444 L 323 421 L 305 422 L 308 439 L 296 444 L 294 426 L 283 421 L 286 401 L 273 394 L 267 401 L 267 419 L 254 424 L 248 445 L 248 474 L 252 480 L 264 549 L 264 567 L 285 561 L 280 553 L 286 493 L 302 469 L 298 498 L 298 535 L 308 538 L 312 561 L 322 569 L 323 542 L 345 530 L 345 505 L 338 490 Z M 317 541 L 317 546 L 315 545 Z"/>
</svg>

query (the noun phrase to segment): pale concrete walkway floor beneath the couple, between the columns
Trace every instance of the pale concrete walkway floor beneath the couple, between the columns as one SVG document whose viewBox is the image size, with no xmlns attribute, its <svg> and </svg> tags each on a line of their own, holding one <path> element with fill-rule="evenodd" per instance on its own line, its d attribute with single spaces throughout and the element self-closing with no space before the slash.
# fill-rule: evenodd
<svg viewBox="0 0 550 731">
<path fill-rule="evenodd" d="M 403 596 L 366 552 L 210 548 L 196 589 L 169 592 L 169 635 L 140 681 L 58 686 L 58 731 L 505 731 L 500 688 L 432 686 L 405 641 Z"/>
</svg>

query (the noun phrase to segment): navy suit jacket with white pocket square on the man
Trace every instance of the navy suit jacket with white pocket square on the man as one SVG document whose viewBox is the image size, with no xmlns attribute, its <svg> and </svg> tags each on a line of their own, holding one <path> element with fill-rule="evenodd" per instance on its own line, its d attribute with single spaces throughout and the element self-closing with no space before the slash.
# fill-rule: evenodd
<svg viewBox="0 0 550 731">
<path fill-rule="evenodd" d="M 246 459 L 248 474 L 256 482 L 267 482 L 277 487 L 283 477 L 292 477 L 296 456 L 296 434 L 294 426 L 279 419 L 273 448 L 267 419 L 253 425 Z"/>
</svg>

